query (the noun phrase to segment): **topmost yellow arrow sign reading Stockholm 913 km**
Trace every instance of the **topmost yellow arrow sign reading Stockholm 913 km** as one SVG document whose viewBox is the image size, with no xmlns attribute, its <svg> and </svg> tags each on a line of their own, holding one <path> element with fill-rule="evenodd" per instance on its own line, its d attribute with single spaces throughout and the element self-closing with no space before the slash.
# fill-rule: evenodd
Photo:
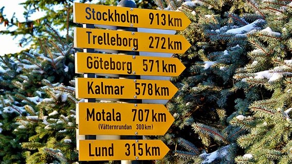
<svg viewBox="0 0 292 164">
<path fill-rule="evenodd" d="M 183 12 L 74 3 L 74 22 L 123 27 L 184 30 L 191 23 Z"/>
</svg>

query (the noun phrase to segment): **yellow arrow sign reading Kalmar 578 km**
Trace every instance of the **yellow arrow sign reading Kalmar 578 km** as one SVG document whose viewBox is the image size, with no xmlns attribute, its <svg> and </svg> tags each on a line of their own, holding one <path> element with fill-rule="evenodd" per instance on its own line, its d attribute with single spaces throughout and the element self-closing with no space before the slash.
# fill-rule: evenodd
<svg viewBox="0 0 292 164">
<path fill-rule="evenodd" d="M 168 80 L 76 78 L 76 98 L 171 99 L 177 88 Z"/>
</svg>

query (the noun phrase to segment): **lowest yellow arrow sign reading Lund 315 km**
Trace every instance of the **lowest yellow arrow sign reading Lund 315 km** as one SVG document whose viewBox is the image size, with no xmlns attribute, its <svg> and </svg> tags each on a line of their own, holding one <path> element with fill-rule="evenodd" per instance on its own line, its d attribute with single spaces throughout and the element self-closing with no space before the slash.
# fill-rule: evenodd
<svg viewBox="0 0 292 164">
<path fill-rule="evenodd" d="M 169 148 L 161 140 L 80 140 L 79 160 L 162 159 Z"/>
</svg>

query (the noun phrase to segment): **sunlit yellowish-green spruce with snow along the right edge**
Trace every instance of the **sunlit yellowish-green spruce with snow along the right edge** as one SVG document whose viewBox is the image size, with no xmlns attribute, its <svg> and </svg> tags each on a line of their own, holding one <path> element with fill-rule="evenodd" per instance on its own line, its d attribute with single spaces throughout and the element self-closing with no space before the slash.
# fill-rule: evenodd
<svg viewBox="0 0 292 164">
<path fill-rule="evenodd" d="M 250 63 L 234 76 L 257 97 L 230 122 L 249 132 L 238 138 L 246 154 L 236 162 L 291 163 L 291 2 L 264 1 L 258 9 L 265 25 L 248 35 Z"/>
</svg>

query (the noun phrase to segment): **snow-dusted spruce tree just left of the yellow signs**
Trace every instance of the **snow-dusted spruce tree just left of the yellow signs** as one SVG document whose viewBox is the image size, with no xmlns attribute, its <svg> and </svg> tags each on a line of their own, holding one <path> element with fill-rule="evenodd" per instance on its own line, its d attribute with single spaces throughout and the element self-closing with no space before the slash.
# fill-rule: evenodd
<svg viewBox="0 0 292 164">
<path fill-rule="evenodd" d="M 75 77 L 74 49 L 72 44 L 64 42 L 66 39 L 58 35 L 53 37 L 58 39 L 40 43 L 42 53 L 31 50 L 17 56 L 15 69 L 19 74 L 11 80 L 13 90 L 3 93 L 2 116 L 9 117 L 1 122 L 3 126 L 10 124 L 10 133 L 22 147 L 16 151 L 25 155 L 22 163 L 78 161 L 75 141 L 77 100 L 74 87 L 69 87 L 74 84 L 71 79 Z M 6 122 L 8 118 L 10 122 Z M 3 145 L 2 150 L 6 149 Z M 10 158 L 13 161 L 13 156 Z"/>
</svg>

